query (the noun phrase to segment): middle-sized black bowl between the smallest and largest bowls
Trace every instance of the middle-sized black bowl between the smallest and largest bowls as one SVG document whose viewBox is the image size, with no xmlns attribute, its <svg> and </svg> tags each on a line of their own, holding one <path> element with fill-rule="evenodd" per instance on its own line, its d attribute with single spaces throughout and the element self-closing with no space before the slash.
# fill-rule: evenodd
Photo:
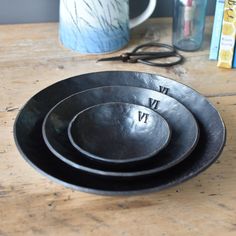
<svg viewBox="0 0 236 236">
<path fill-rule="evenodd" d="M 160 113 L 172 129 L 171 141 L 165 150 L 135 165 L 96 163 L 78 155 L 67 135 L 70 121 L 90 106 L 111 101 L 138 104 Z M 51 109 L 42 129 L 46 145 L 61 160 L 80 170 L 116 177 L 141 176 L 168 169 L 186 158 L 198 141 L 198 125 L 185 106 L 160 92 L 130 86 L 99 87 L 74 94 Z"/>
</svg>

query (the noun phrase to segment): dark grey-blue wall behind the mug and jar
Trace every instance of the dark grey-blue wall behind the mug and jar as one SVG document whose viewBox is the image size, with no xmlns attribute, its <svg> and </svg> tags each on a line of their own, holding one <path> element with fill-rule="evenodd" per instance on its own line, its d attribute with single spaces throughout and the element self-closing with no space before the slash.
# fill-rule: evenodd
<svg viewBox="0 0 236 236">
<path fill-rule="evenodd" d="M 173 0 L 158 0 L 153 17 L 172 15 Z M 148 0 L 130 0 L 131 17 L 138 15 Z M 214 15 L 215 0 L 208 0 L 208 15 Z M 58 21 L 59 0 L 0 0 L 0 24 Z"/>
</svg>

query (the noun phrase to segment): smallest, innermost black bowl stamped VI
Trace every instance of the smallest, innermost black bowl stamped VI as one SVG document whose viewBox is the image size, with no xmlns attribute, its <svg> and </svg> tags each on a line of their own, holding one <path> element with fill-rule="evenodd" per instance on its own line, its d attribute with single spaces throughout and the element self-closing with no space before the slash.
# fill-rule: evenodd
<svg viewBox="0 0 236 236">
<path fill-rule="evenodd" d="M 78 113 L 68 126 L 72 145 L 86 156 L 109 163 L 154 156 L 170 141 L 167 121 L 139 105 L 111 102 Z"/>
</svg>

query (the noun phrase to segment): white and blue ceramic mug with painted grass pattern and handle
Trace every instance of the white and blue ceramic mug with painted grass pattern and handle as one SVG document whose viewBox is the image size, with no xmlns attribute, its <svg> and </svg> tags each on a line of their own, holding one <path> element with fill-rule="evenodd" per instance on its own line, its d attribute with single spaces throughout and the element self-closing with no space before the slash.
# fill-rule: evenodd
<svg viewBox="0 0 236 236">
<path fill-rule="evenodd" d="M 148 19 L 157 0 L 129 19 L 129 0 L 60 0 L 60 40 L 80 53 L 108 53 L 123 48 L 130 28 Z"/>
</svg>

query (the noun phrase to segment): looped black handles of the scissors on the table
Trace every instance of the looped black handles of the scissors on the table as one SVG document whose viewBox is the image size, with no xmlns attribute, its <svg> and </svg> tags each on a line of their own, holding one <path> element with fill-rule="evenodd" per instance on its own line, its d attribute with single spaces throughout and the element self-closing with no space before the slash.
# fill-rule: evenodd
<svg viewBox="0 0 236 236">
<path fill-rule="evenodd" d="M 145 47 L 167 48 L 169 50 L 164 52 L 138 52 L 138 50 Z M 173 46 L 163 43 L 146 43 L 139 45 L 131 53 L 129 53 L 128 56 L 129 56 L 128 62 L 130 63 L 140 62 L 149 66 L 158 66 L 158 67 L 170 67 L 180 64 L 184 61 L 184 57 L 180 55 Z M 157 63 L 150 61 L 153 59 L 167 58 L 167 57 L 176 57 L 177 60 L 174 62 L 166 62 L 166 63 Z"/>
</svg>

